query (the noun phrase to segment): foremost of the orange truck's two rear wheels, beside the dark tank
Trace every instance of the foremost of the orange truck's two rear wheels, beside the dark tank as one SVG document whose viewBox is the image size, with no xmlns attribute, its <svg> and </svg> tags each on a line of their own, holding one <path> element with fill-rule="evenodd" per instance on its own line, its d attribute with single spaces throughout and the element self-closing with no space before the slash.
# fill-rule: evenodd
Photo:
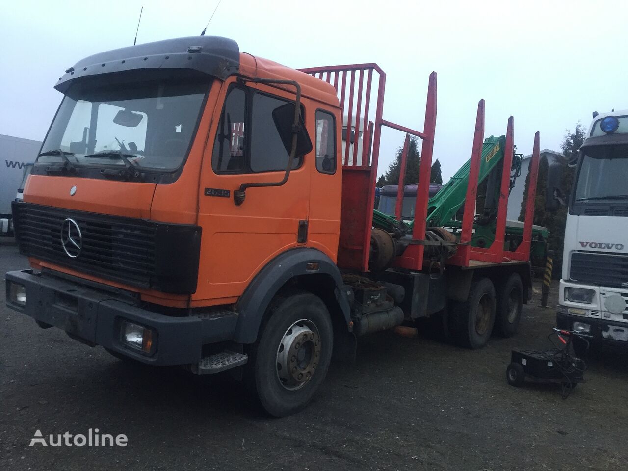
<svg viewBox="0 0 628 471">
<path fill-rule="evenodd" d="M 481 349 L 487 344 L 495 324 L 495 287 L 489 278 L 471 284 L 467 301 L 452 303 L 448 327 L 460 347 Z"/>
</svg>

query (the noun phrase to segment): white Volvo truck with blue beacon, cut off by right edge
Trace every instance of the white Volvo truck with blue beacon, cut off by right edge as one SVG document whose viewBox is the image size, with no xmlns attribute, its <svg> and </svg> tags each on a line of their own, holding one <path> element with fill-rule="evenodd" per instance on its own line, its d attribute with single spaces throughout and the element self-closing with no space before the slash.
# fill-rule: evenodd
<svg viewBox="0 0 628 471">
<path fill-rule="evenodd" d="M 549 167 L 549 208 L 562 171 Z M 593 335 L 594 348 L 628 352 L 628 110 L 593 113 L 565 203 L 556 323 Z"/>
</svg>

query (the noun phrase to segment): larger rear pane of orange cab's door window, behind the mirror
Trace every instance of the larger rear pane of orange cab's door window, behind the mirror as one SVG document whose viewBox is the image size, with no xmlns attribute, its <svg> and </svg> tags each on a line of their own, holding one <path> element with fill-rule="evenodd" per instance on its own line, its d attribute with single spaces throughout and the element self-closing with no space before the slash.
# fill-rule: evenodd
<svg viewBox="0 0 628 471">
<path fill-rule="evenodd" d="M 290 155 L 274 124 L 273 111 L 284 106 L 281 100 L 261 93 L 253 94 L 251 114 L 251 171 L 286 170 Z M 292 108 L 294 110 L 294 107 Z M 295 158 L 292 168 L 301 165 L 303 157 Z"/>
</svg>

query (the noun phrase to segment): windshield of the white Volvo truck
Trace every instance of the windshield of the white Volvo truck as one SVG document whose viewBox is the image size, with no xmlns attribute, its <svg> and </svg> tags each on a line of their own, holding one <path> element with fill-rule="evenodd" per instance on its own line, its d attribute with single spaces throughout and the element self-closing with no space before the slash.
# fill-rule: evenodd
<svg viewBox="0 0 628 471">
<path fill-rule="evenodd" d="M 575 200 L 628 198 L 628 146 L 594 146 L 583 149 Z"/>
</svg>

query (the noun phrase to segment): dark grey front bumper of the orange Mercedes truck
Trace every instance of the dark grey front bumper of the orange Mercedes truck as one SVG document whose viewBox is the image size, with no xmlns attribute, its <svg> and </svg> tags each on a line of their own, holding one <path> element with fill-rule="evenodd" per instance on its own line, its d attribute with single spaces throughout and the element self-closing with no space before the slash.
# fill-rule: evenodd
<svg viewBox="0 0 628 471">
<path fill-rule="evenodd" d="M 9 283 L 22 284 L 26 303 L 21 306 L 7 297 L 7 305 L 35 319 L 40 327 L 58 327 L 70 337 L 89 345 L 102 345 L 122 355 L 154 365 L 195 364 L 202 345 L 233 338 L 237 316 L 174 317 L 134 305 L 124 293 L 109 292 L 33 270 L 11 271 Z M 143 354 L 122 344 L 121 322 L 127 320 L 151 328 L 156 338 L 152 354 Z"/>
</svg>

